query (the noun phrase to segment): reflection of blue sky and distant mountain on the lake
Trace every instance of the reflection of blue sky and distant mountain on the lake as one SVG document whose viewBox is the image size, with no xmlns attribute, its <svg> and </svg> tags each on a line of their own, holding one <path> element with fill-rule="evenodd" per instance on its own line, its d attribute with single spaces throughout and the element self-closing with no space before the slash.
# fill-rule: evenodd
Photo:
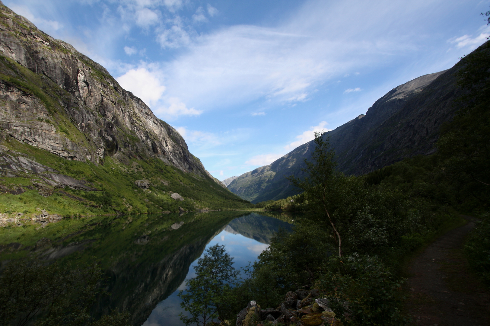
<svg viewBox="0 0 490 326">
<path fill-rule="evenodd" d="M 221 232 L 215 235 L 206 245 L 206 249 L 217 243 L 225 245 L 226 250 L 234 257 L 235 268 L 245 267 L 249 261 L 267 249 L 272 235 L 283 228 L 291 230 L 291 224 L 259 214 L 248 214 L 230 221 L 223 226 Z M 202 255 L 202 253 L 201 253 Z M 194 267 L 197 259 L 188 267 L 185 279 L 195 276 Z M 159 302 L 149 315 L 143 326 L 181 326 L 179 313 L 185 312 L 180 308 L 179 290 L 185 289 L 185 280 L 165 300 Z"/>
</svg>

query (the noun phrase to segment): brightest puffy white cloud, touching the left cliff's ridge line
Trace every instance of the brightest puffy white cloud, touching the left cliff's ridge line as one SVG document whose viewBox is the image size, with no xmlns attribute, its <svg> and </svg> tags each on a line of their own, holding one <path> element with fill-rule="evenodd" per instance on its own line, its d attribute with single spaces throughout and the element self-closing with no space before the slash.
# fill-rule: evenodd
<svg viewBox="0 0 490 326">
<path fill-rule="evenodd" d="M 160 80 L 144 67 L 131 69 L 116 80 L 124 89 L 142 99 L 148 106 L 156 104 L 166 89 Z"/>
</svg>

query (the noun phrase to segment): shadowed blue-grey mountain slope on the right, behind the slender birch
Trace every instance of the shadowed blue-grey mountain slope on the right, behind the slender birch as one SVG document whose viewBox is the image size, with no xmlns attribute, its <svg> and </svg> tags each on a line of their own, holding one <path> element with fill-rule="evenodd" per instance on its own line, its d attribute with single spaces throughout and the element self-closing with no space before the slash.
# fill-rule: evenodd
<svg viewBox="0 0 490 326">
<path fill-rule="evenodd" d="M 366 115 L 328 131 L 339 169 L 361 175 L 405 157 L 435 151 L 441 124 L 451 119 L 454 100 L 461 91 L 449 70 L 423 75 L 393 88 L 377 100 Z M 286 179 L 302 176 L 304 159 L 314 142 L 292 150 L 270 165 L 247 172 L 228 185 L 233 193 L 254 203 L 286 198 L 297 193 Z"/>
</svg>

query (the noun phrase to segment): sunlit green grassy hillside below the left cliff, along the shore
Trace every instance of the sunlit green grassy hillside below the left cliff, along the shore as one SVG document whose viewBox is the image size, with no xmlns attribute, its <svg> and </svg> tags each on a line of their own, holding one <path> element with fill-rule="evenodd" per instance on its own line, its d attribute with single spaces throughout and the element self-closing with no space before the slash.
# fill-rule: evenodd
<svg viewBox="0 0 490 326">
<path fill-rule="evenodd" d="M 99 215 L 115 213 L 178 212 L 180 210 L 223 209 L 250 207 L 247 201 L 216 184 L 209 177 L 184 173 L 166 165 L 159 159 L 132 159 L 129 164 L 106 156 L 102 164 L 89 161 L 79 162 L 61 158 L 46 150 L 7 138 L 0 145 L 8 148 L 11 155 L 28 157 L 40 164 L 55 169 L 60 174 L 87 181 L 97 191 L 75 190 L 68 187 L 51 189 L 52 195 L 39 194 L 33 183 L 39 177 L 28 173 L 16 173 L 16 177 L 0 177 L 4 193 L 0 196 L 0 213 L 14 217 L 39 214 L 45 209 L 49 214 L 61 216 Z M 12 154 L 12 152 L 17 152 Z M 139 188 L 134 182 L 146 179 L 147 189 Z M 26 190 L 20 195 L 6 192 L 18 187 Z M 29 189 L 31 188 L 31 189 Z M 171 198 L 178 193 L 184 200 Z"/>
</svg>

